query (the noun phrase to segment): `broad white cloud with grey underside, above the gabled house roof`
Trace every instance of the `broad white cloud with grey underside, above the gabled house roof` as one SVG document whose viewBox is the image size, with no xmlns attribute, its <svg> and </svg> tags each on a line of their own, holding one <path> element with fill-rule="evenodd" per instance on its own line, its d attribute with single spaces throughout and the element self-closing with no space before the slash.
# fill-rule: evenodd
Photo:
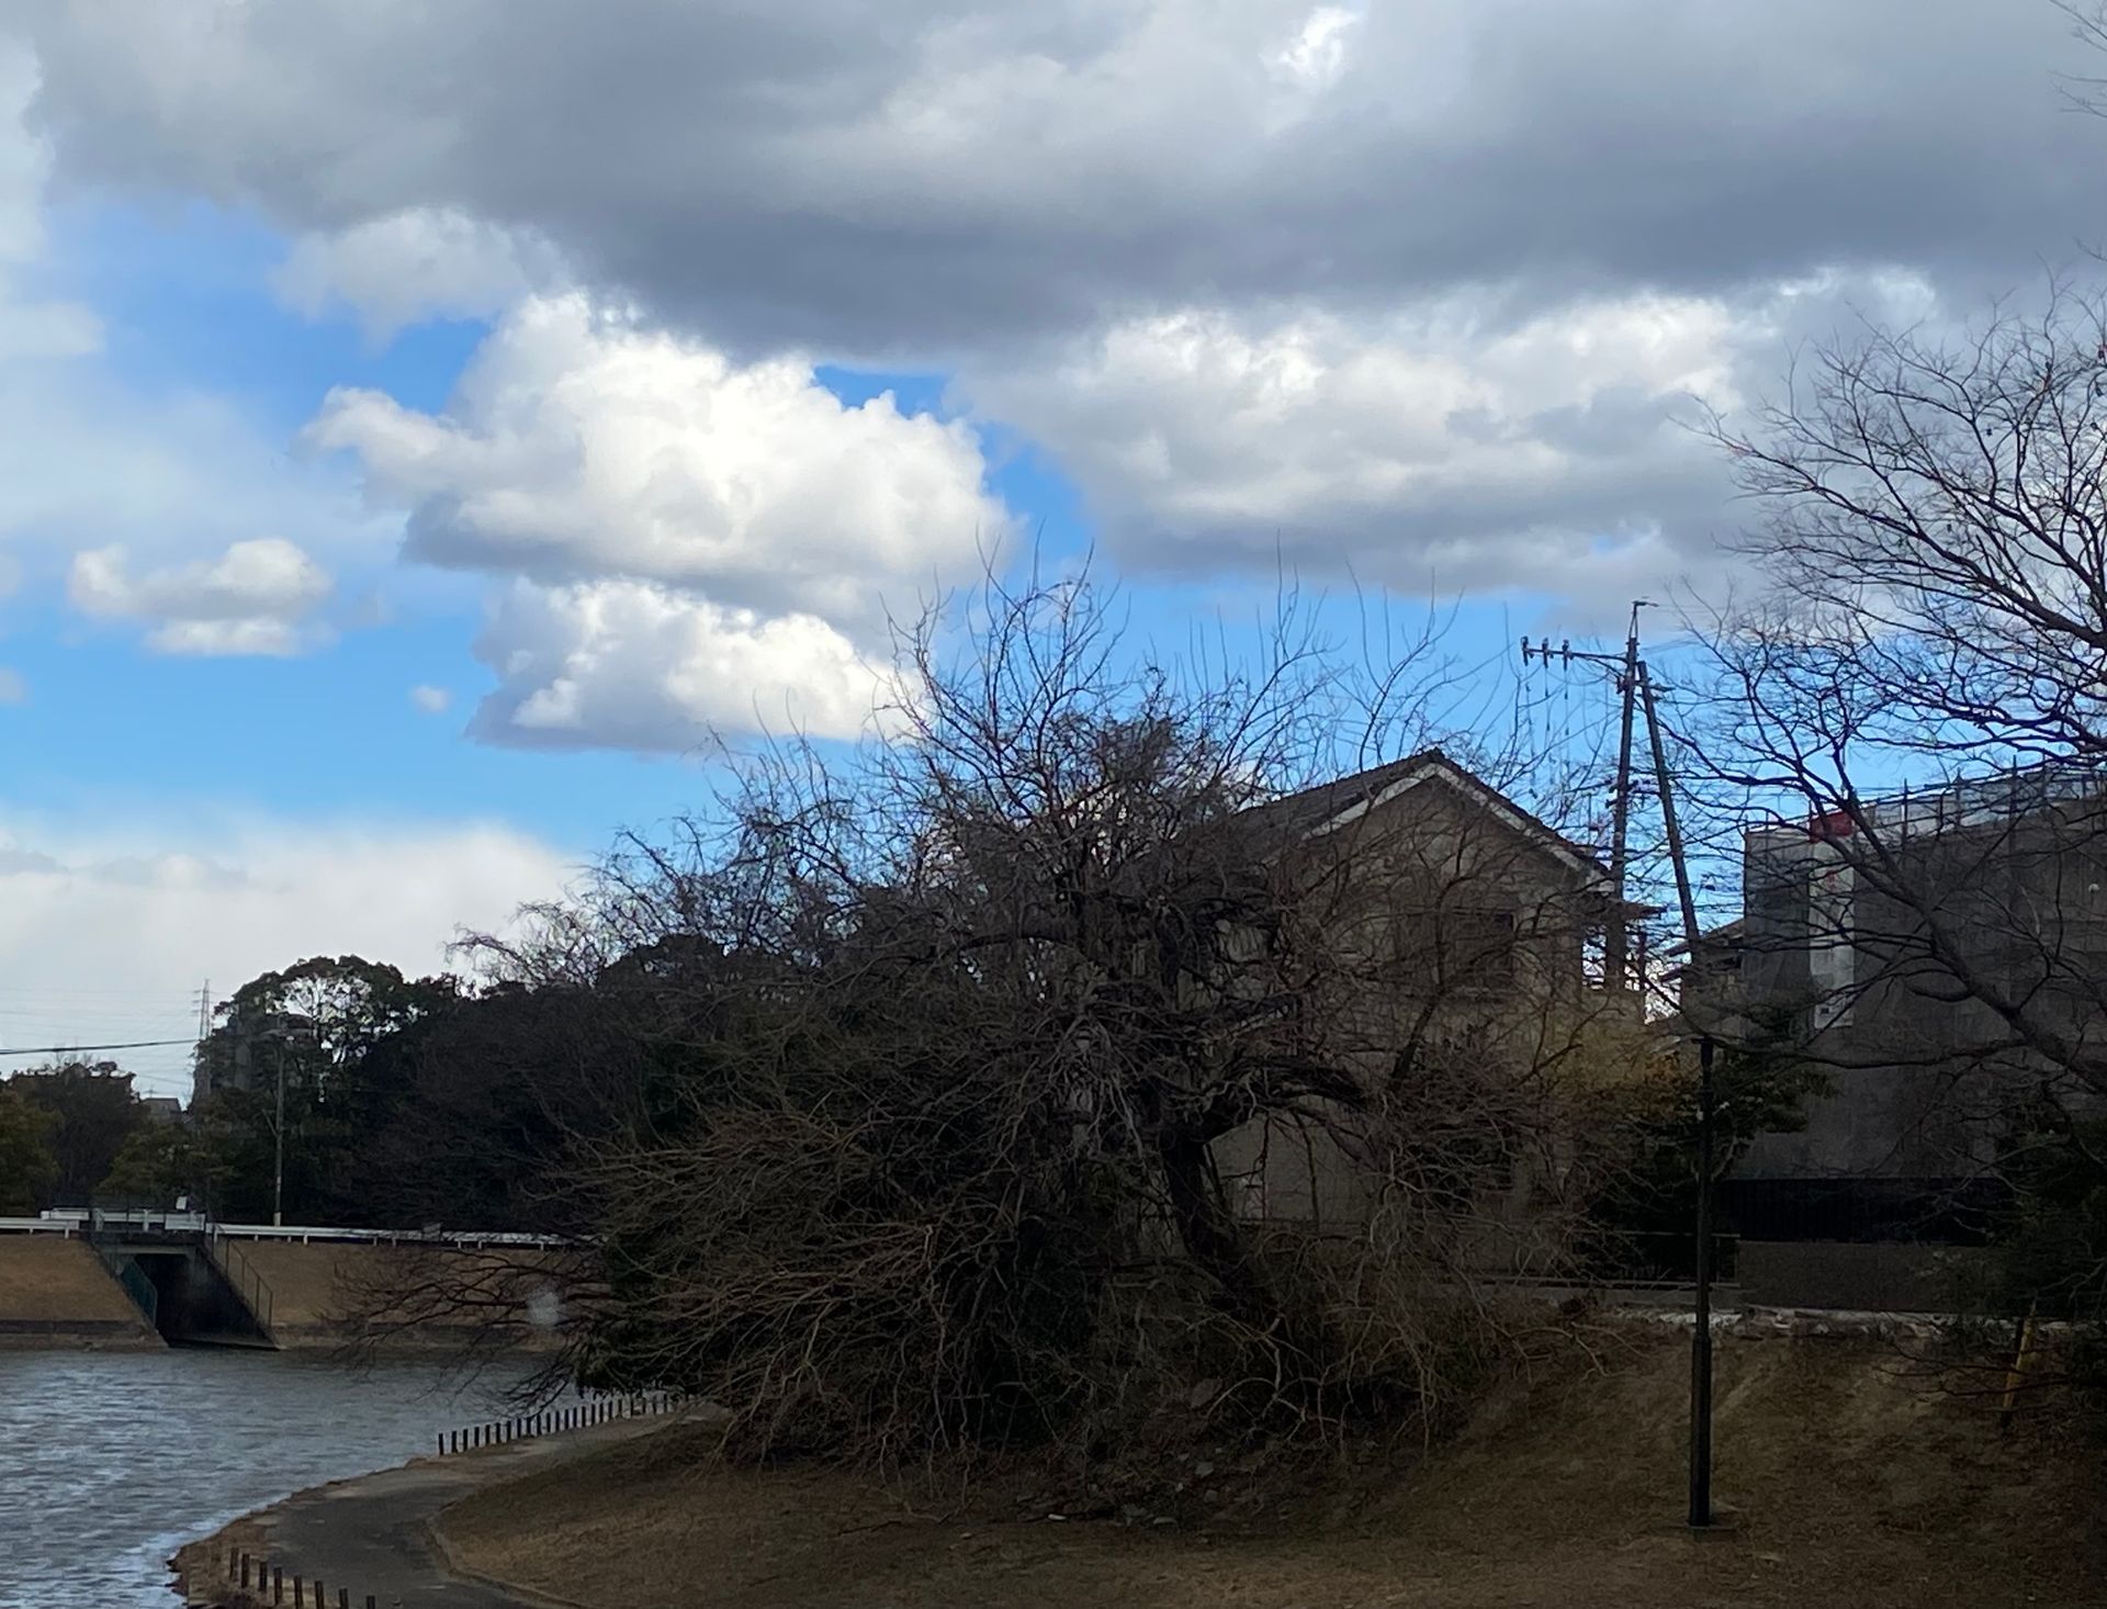
<svg viewBox="0 0 2107 1609">
<path fill-rule="evenodd" d="M 1414 588 L 1555 590 L 1698 552 L 1688 520 L 1721 474 L 1692 398 L 1738 398 L 1770 310 L 1635 295 L 1502 324 L 1479 305 L 1195 307 L 961 390 L 1070 468 L 1117 552 L 1159 567 L 1285 548 Z"/>
</svg>

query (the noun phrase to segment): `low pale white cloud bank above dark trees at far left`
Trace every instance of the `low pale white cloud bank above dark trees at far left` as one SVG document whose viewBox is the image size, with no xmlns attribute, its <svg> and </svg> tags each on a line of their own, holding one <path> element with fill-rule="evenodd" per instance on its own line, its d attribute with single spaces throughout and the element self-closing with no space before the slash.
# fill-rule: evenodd
<svg viewBox="0 0 2107 1609">
<path fill-rule="evenodd" d="M 181 813 L 145 811 L 173 821 Z M 0 817 L 0 979 L 6 1045 L 173 1038 L 270 967 L 360 954 L 409 973 L 445 965 L 455 931 L 501 927 L 554 895 L 565 859 L 491 823 L 230 819 L 154 830 Z M 386 899 L 373 891 L 386 889 Z M 82 988 L 93 979 L 93 990 Z M 141 1032 L 158 1030 L 158 1032 Z M 188 1093 L 188 1051 L 137 1051 L 126 1068 Z"/>
</svg>

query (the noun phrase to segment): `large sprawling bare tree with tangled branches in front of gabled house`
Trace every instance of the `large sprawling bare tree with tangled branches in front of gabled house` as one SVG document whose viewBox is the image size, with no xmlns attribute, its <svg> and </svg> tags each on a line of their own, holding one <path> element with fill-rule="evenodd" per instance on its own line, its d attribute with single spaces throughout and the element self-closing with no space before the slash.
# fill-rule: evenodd
<svg viewBox="0 0 2107 1609">
<path fill-rule="evenodd" d="M 1488 1270 L 1559 1266 L 1601 1173 L 1643 1021 L 1584 977 L 1599 868 L 1407 758 L 1431 634 L 1355 668 L 1289 600 L 1180 674 L 1087 579 L 969 613 L 906 638 L 883 739 L 777 746 L 483 941 L 622 1068 L 550 1179 L 565 1367 L 879 1453 L 1087 1441 L 1165 1373 L 1431 1411 L 1502 1333 Z"/>
</svg>

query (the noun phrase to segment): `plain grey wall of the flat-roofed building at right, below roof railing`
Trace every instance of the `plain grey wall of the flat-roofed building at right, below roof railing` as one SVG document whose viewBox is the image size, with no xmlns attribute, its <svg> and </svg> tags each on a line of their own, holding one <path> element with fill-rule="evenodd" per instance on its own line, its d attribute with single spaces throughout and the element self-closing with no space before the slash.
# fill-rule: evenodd
<svg viewBox="0 0 2107 1609">
<path fill-rule="evenodd" d="M 2082 802 L 1898 817 L 1873 842 L 1751 834 L 1742 998 L 1793 1013 L 1831 1091 L 1801 1133 L 1757 1139 L 1738 1175 L 1966 1179 L 1993 1165 L 2016 1108 L 2080 1095 L 1983 996 L 2101 1036 L 2103 849 L 2107 817 Z"/>
</svg>

